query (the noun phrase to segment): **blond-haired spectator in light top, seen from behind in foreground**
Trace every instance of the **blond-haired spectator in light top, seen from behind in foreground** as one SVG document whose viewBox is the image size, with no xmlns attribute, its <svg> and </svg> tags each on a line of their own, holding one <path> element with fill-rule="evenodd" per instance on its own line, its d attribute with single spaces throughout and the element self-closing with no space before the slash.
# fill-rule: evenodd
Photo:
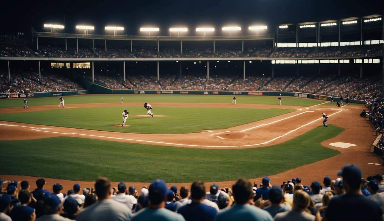
<svg viewBox="0 0 384 221">
<path fill-rule="evenodd" d="M 313 221 L 315 216 L 308 209 L 310 204 L 311 198 L 308 193 L 303 190 L 297 190 L 293 194 L 292 210 L 276 214 L 275 221 Z"/>
</svg>

